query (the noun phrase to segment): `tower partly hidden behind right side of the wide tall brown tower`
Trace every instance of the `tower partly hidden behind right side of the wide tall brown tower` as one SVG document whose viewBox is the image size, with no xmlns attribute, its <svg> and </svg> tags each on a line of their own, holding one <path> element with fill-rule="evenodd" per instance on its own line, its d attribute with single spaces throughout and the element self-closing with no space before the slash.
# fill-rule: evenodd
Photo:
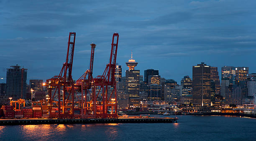
<svg viewBox="0 0 256 141">
<path fill-rule="evenodd" d="M 215 83 L 215 95 L 220 94 L 220 77 L 218 67 L 211 67 L 211 80 Z"/>
</svg>

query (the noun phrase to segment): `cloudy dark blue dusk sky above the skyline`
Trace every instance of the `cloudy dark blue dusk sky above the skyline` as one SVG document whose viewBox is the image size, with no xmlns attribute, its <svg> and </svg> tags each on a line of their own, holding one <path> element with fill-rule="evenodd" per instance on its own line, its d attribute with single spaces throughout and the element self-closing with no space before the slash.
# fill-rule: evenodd
<svg viewBox="0 0 256 141">
<path fill-rule="evenodd" d="M 255 0 L 0 0 L 0 77 L 16 64 L 28 69 L 27 83 L 58 75 L 69 32 L 77 33 L 75 80 L 89 67 L 92 42 L 93 76 L 103 73 L 114 32 L 123 76 L 131 50 L 141 75 L 157 69 L 178 84 L 201 62 L 256 73 Z"/>
</svg>

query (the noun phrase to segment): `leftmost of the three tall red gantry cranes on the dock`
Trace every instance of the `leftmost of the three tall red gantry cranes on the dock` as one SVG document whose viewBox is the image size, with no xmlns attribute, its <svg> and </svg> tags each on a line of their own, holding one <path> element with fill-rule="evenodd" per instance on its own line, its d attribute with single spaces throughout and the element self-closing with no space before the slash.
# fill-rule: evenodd
<svg viewBox="0 0 256 141">
<path fill-rule="evenodd" d="M 70 96 L 72 96 L 71 116 L 72 117 L 74 116 L 74 81 L 72 79 L 72 66 L 73 66 L 73 57 L 74 57 L 75 38 L 76 38 L 76 33 L 69 32 L 66 62 L 64 62 L 59 75 L 46 80 L 46 86 L 48 88 L 48 93 L 49 93 L 50 106 L 53 106 L 54 96 L 56 94 L 58 95 L 57 104 L 58 104 L 59 118 L 64 117 L 65 106 L 67 106 Z M 63 93 L 62 101 L 61 101 L 61 91 Z M 68 95 L 66 96 L 66 94 Z M 62 112 L 61 112 L 61 108 L 62 108 Z M 50 112 L 50 117 L 51 117 L 51 112 Z"/>
</svg>

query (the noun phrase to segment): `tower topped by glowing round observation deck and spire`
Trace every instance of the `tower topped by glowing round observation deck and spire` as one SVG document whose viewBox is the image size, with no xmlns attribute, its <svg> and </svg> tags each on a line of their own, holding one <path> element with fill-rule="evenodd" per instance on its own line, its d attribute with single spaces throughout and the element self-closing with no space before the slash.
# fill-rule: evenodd
<svg viewBox="0 0 256 141">
<path fill-rule="evenodd" d="M 134 67 L 137 66 L 137 62 L 133 59 L 133 54 L 131 59 L 126 62 L 129 70 L 125 71 L 125 93 L 129 95 L 129 105 L 136 107 L 139 106 L 140 102 L 140 70 L 135 70 Z"/>
</svg>

